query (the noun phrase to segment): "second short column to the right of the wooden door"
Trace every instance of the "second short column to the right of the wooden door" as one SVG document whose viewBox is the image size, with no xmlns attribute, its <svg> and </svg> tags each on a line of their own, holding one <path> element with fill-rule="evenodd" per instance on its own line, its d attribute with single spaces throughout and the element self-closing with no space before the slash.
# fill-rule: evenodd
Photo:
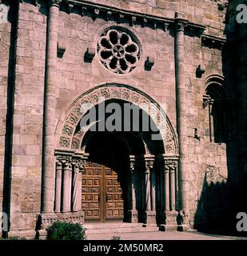
<svg viewBox="0 0 247 256">
<path fill-rule="evenodd" d="M 149 223 L 156 223 L 156 211 L 152 210 L 151 205 L 151 197 L 152 197 L 152 190 L 150 181 L 150 174 L 153 172 L 153 158 L 145 157 L 145 213 L 144 213 L 144 222 Z M 155 195 L 154 195 L 155 197 Z"/>
</svg>

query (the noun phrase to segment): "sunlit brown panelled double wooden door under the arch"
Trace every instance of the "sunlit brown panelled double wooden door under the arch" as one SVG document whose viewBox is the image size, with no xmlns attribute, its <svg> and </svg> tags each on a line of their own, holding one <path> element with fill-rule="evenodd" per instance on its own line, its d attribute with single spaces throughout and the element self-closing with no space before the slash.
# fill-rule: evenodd
<svg viewBox="0 0 247 256">
<path fill-rule="evenodd" d="M 86 222 L 123 220 L 122 187 L 114 169 L 89 162 L 82 174 L 82 210 Z"/>
</svg>

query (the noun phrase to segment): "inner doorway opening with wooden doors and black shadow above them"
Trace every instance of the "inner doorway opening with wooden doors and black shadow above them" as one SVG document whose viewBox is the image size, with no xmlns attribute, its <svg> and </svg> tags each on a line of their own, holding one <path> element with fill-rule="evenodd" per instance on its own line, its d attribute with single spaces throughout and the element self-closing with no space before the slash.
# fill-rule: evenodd
<svg viewBox="0 0 247 256">
<path fill-rule="evenodd" d="M 128 208 L 129 150 L 116 134 L 90 134 L 88 164 L 82 173 L 86 222 L 125 220 Z"/>
</svg>

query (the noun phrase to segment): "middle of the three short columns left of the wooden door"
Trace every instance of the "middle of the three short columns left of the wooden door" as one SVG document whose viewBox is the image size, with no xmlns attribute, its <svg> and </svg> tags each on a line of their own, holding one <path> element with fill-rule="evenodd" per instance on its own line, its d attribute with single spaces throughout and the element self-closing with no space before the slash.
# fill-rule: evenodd
<svg viewBox="0 0 247 256">
<path fill-rule="evenodd" d="M 66 213 L 70 211 L 71 205 L 71 162 L 65 162 L 62 172 L 62 212 Z"/>
</svg>

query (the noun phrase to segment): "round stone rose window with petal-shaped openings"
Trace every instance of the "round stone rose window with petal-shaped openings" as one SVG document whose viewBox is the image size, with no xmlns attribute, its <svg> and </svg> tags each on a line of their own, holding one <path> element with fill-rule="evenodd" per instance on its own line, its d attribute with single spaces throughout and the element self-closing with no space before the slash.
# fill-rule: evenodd
<svg viewBox="0 0 247 256">
<path fill-rule="evenodd" d="M 121 30 L 108 30 L 99 38 L 98 57 L 108 70 L 125 74 L 137 66 L 140 50 L 129 34 Z"/>
</svg>

